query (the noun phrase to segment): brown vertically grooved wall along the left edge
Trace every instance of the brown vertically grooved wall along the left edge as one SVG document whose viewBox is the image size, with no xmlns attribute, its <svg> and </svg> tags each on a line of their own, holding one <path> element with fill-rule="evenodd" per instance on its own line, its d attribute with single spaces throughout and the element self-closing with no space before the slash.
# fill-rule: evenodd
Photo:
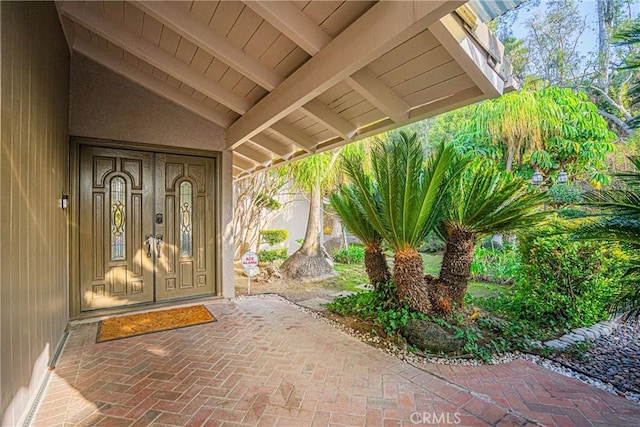
<svg viewBox="0 0 640 427">
<path fill-rule="evenodd" d="M 68 319 L 69 51 L 52 2 L 0 2 L 0 420 L 18 425 Z"/>
</svg>

